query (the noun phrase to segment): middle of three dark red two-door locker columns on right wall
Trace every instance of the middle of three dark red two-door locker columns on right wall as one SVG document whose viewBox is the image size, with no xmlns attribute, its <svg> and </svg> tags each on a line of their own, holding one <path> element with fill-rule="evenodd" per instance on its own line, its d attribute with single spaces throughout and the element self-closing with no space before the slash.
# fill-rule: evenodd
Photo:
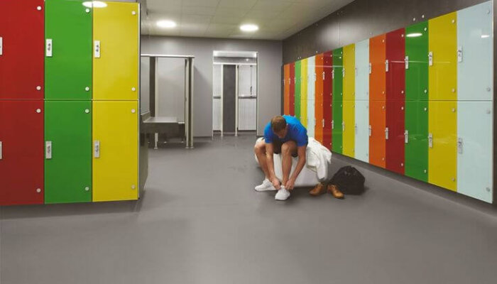
<svg viewBox="0 0 497 284">
<path fill-rule="evenodd" d="M 332 52 L 323 57 L 323 146 L 332 150 L 332 89 L 333 89 L 333 57 Z"/>
</svg>

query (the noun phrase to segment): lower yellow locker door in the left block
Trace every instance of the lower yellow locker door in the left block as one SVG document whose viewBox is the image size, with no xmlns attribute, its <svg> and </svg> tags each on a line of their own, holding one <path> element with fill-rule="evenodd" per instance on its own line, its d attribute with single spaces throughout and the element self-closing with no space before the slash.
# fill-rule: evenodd
<svg viewBox="0 0 497 284">
<path fill-rule="evenodd" d="M 138 102 L 93 102 L 93 201 L 138 199 Z"/>
</svg>

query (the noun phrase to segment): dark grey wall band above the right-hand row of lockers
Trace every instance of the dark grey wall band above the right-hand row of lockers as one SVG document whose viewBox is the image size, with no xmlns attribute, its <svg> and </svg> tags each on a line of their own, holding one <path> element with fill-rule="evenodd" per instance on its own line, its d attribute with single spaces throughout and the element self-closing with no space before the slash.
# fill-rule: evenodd
<svg viewBox="0 0 497 284">
<path fill-rule="evenodd" d="M 485 1 L 356 0 L 283 40 L 283 62 L 307 58 Z"/>
</svg>

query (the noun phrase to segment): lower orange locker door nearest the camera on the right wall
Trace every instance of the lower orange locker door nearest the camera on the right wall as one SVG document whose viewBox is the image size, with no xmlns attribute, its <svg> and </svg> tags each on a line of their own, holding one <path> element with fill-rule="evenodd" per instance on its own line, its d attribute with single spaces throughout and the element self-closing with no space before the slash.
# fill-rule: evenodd
<svg viewBox="0 0 497 284">
<path fill-rule="evenodd" d="M 369 101 L 369 163 L 385 168 L 386 102 Z"/>
</svg>

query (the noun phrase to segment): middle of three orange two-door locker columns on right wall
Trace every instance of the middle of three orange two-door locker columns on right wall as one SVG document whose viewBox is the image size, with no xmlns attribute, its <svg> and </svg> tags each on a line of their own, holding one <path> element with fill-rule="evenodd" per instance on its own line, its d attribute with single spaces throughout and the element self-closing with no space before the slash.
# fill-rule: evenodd
<svg viewBox="0 0 497 284">
<path fill-rule="evenodd" d="M 315 72 L 316 72 L 316 82 L 315 82 L 315 116 L 316 125 L 314 130 L 314 136 L 317 141 L 324 144 L 324 54 L 318 54 L 315 57 Z"/>
</svg>

